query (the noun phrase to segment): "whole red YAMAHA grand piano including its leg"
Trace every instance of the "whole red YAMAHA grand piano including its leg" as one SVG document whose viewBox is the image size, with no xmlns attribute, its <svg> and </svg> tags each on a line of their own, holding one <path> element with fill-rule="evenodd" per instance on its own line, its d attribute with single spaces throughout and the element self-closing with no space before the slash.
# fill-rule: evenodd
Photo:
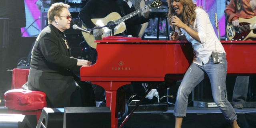
<svg viewBox="0 0 256 128">
<path fill-rule="evenodd" d="M 192 47 L 186 41 L 96 40 L 98 59 L 80 69 L 82 81 L 106 90 L 106 105 L 111 110 L 111 127 L 118 128 L 117 90 L 134 81 L 179 80 L 192 61 Z M 256 42 L 222 41 L 227 53 L 228 74 L 256 74 Z"/>
</svg>

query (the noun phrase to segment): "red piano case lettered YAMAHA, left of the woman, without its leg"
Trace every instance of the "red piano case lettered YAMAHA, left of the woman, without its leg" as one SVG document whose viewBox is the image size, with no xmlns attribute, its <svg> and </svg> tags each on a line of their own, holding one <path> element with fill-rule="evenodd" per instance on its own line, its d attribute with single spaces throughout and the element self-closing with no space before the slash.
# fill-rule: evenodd
<svg viewBox="0 0 256 128">
<path fill-rule="evenodd" d="M 96 48 L 98 59 L 91 67 L 81 68 L 81 79 L 150 81 L 159 78 L 156 81 L 163 81 L 166 74 L 184 74 L 192 60 L 191 44 L 180 41 L 139 40 L 142 43 L 134 44 L 122 40 L 96 42 L 102 42 Z"/>
</svg>

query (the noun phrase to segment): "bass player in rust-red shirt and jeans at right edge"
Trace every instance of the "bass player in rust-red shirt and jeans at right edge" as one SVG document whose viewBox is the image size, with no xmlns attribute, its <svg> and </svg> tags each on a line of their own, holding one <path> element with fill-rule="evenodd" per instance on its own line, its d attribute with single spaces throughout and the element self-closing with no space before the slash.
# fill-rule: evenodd
<svg viewBox="0 0 256 128">
<path fill-rule="evenodd" d="M 238 18 L 250 19 L 256 16 L 256 0 L 230 0 L 225 13 L 229 23 L 239 27 Z M 248 40 L 256 40 L 250 38 Z M 242 109 L 248 93 L 249 76 L 237 76 L 233 90 L 232 104 L 235 109 Z"/>
</svg>

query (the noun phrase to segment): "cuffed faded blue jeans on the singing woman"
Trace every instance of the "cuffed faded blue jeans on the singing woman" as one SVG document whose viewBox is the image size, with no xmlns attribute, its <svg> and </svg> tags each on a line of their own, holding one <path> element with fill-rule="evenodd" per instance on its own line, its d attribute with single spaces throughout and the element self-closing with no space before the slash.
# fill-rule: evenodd
<svg viewBox="0 0 256 128">
<path fill-rule="evenodd" d="M 228 102 L 225 96 L 226 75 L 227 75 L 227 60 L 225 53 L 219 53 L 220 63 L 214 64 L 212 56 L 207 64 L 199 66 L 192 63 L 186 71 L 184 78 L 177 92 L 176 103 L 174 106 L 174 116 L 186 116 L 188 106 L 188 96 L 203 79 L 205 73 L 208 75 L 212 88 L 212 96 L 214 102 L 224 114 L 228 122 L 237 120 L 237 115 L 234 108 Z"/>
</svg>

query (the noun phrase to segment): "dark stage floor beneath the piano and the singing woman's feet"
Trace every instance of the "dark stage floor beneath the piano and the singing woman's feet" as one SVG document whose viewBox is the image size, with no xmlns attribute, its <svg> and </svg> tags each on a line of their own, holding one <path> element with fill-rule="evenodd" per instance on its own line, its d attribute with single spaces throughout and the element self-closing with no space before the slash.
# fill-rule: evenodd
<svg viewBox="0 0 256 128">
<path fill-rule="evenodd" d="M 166 112 L 134 112 L 123 128 L 174 128 L 174 107 Z M 236 109 L 241 128 L 256 128 L 256 108 Z M 0 106 L 0 114 L 8 109 Z M 188 107 L 182 128 L 231 128 L 218 108 Z"/>
</svg>

